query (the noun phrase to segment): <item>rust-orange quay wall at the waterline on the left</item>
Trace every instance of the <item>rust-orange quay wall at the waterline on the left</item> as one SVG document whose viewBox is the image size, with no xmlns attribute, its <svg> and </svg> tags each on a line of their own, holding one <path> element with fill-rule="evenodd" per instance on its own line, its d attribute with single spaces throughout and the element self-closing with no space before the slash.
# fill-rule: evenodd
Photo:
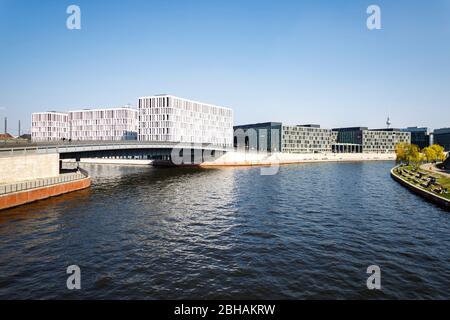
<svg viewBox="0 0 450 320">
<path fill-rule="evenodd" d="M 91 178 L 60 183 L 42 188 L 35 188 L 0 196 L 0 210 L 17 207 L 26 203 L 47 199 L 69 193 L 72 191 L 82 190 L 91 185 Z"/>
</svg>

